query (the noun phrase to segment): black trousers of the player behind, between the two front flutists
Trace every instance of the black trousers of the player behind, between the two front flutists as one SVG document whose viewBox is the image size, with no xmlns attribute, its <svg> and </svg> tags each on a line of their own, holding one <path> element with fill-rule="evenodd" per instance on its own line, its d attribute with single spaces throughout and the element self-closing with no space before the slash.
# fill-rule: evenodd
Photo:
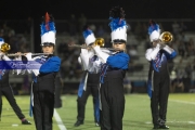
<svg viewBox="0 0 195 130">
<path fill-rule="evenodd" d="M 77 99 L 77 119 L 80 121 L 84 120 L 86 103 L 90 93 L 93 96 L 94 121 L 98 122 L 99 119 L 95 117 L 95 103 L 99 102 L 99 75 L 88 76 L 87 89 L 82 92 L 81 98 L 78 96 Z"/>
</svg>

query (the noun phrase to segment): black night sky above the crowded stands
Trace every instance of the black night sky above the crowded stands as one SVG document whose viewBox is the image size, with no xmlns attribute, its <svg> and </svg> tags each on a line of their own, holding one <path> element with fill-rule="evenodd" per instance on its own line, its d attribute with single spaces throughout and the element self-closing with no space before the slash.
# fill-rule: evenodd
<svg viewBox="0 0 195 130">
<path fill-rule="evenodd" d="M 1 20 L 40 18 L 46 12 L 55 20 L 80 13 L 89 20 L 108 18 L 112 6 L 120 5 L 126 18 L 195 18 L 193 0 L 1 0 Z"/>
</svg>

